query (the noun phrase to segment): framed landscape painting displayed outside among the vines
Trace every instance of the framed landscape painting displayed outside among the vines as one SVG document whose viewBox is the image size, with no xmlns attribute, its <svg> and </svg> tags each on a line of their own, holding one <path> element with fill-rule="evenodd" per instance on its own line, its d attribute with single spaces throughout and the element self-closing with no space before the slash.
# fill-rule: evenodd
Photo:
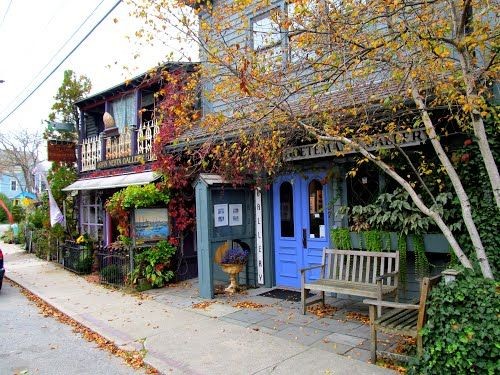
<svg viewBox="0 0 500 375">
<path fill-rule="evenodd" d="M 134 214 L 136 241 L 164 240 L 170 234 L 166 208 L 137 208 Z"/>
</svg>

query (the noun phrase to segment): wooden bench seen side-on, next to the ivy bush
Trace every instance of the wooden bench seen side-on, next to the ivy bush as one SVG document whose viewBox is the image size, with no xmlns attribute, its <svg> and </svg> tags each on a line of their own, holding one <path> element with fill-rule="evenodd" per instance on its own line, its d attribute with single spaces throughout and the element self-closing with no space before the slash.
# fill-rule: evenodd
<svg viewBox="0 0 500 375">
<path fill-rule="evenodd" d="M 430 290 L 441 280 L 441 275 L 432 278 L 424 277 L 420 284 L 420 298 L 418 304 L 397 303 L 388 301 L 375 301 L 365 299 L 363 302 L 370 305 L 370 329 L 371 329 L 371 359 L 377 362 L 377 355 L 390 357 L 400 361 L 408 361 L 409 357 L 377 350 L 377 332 L 400 334 L 417 338 L 417 355 L 422 355 L 422 335 L 420 330 L 424 326 L 426 313 L 425 304 Z M 376 317 L 375 308 L 389 307 L 391 310 L 382 316 Z"/>
</svg>

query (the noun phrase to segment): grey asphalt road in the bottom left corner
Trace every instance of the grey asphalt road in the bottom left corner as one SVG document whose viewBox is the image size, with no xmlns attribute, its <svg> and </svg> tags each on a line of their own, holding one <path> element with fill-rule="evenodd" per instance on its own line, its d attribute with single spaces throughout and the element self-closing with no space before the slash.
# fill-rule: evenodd
<svg viewBox="0 0 500 375">
<path fill-rule="evenodd" d="M 19 288 L 0 291 L 0 374 L 142 374 L 87 342 L 71 327 L 43 317 Z"/>
</svg>

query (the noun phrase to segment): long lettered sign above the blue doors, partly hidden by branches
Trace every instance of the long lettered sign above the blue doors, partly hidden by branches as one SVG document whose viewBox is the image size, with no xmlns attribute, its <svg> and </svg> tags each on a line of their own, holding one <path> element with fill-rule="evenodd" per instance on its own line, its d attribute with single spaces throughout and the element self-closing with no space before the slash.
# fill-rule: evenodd
<svg viewBox="0 0 500 375">
<path fill-rule="evenodd" d="M 400 147 L 417 146 L 427 140 L 425 129 L 412 129 L 411 131 L 394 132 L 390 134 L 374 135 L 371 142 L 366 145 L 368 151 L 380 150 L 384 148 L 393 148 L 395 145 Z M 365 142 L 359 141 L 361 145 Z M 285 150 L 285 161 L 304 160 L 314 158 L 324 158 L 328 156 L 339 156 L 354 154 L 349 146 L 345 146 L 340 141 L 325 141 L 304 146 L 290 147 Z"/>
</svg>

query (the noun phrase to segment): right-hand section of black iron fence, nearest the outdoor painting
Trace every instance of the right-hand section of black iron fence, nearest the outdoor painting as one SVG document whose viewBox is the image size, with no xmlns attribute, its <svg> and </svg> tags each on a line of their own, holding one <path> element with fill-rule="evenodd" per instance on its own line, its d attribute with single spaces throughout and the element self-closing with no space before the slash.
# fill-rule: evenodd
<svg viewBox="0 0 500 375">
<path fill-rule="evenodd" d="M 99 282 L 114 286 L 125 286 L 130 273 L 128 254 L 101 250 L 97 253 Z"/>
</svg>

